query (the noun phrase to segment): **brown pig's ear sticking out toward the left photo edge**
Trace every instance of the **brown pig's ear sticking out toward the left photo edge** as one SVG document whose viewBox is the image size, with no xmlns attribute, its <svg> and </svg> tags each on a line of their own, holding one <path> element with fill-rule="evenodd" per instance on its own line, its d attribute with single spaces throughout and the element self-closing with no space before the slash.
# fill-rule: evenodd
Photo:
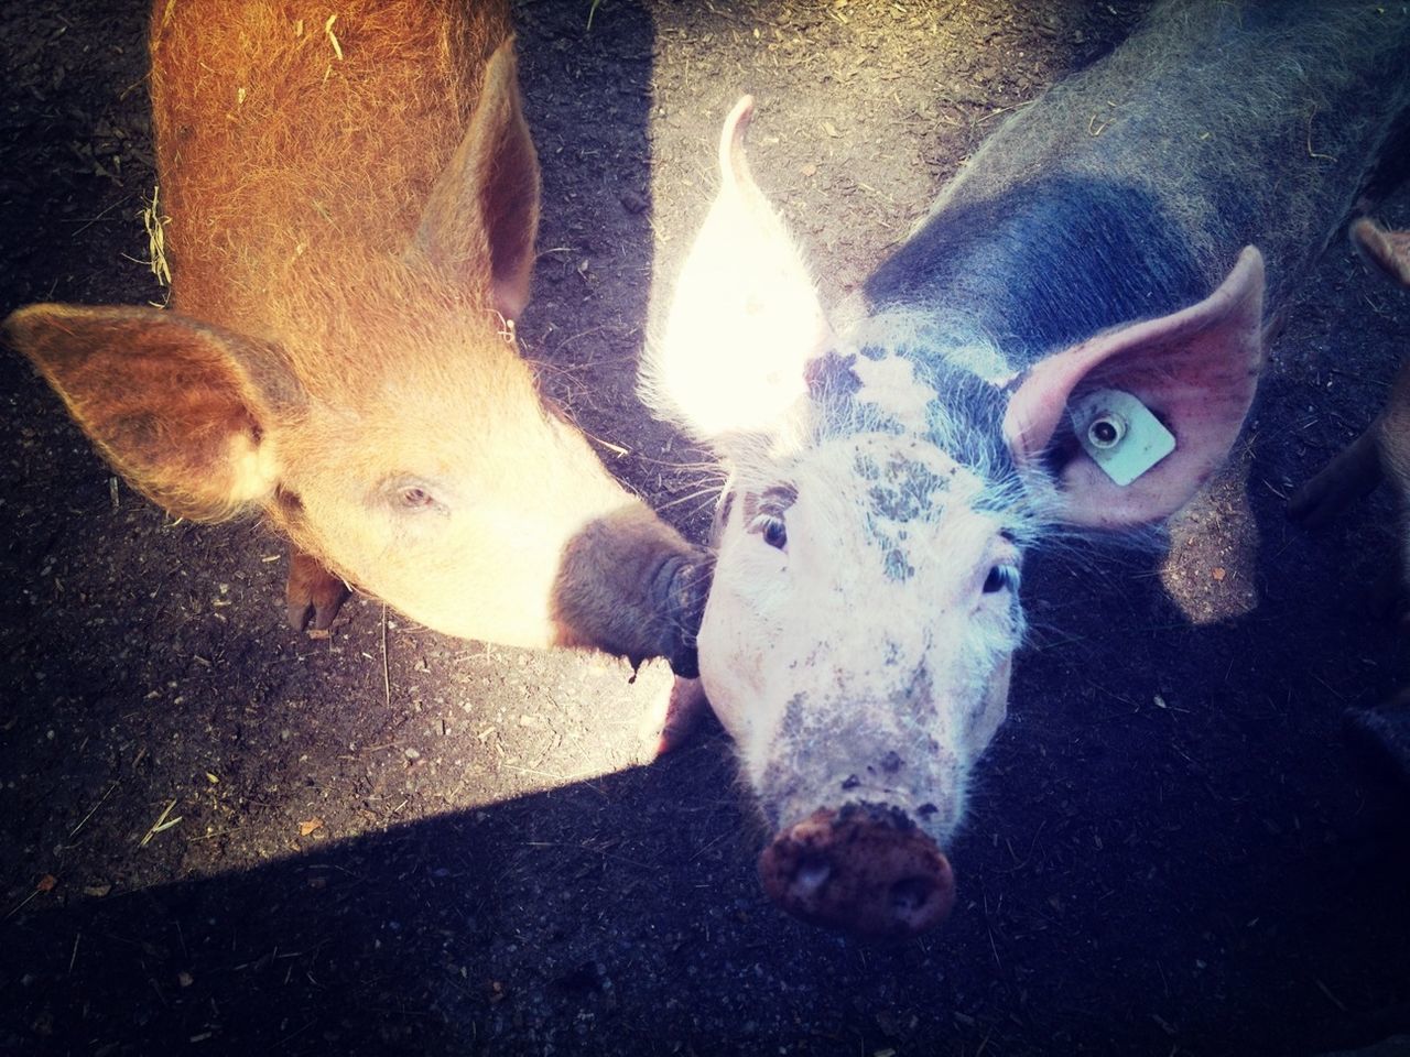
<svg viewBox="0 0 1410 1057">
<path fill-rule="evenodd" d="M 158 309 L 32 304 L 4 331 L 113 466 L 172 513 L 219 520 L 274 490 L 266 434 L 303 404 L 278 350 Z"/>
</svg>

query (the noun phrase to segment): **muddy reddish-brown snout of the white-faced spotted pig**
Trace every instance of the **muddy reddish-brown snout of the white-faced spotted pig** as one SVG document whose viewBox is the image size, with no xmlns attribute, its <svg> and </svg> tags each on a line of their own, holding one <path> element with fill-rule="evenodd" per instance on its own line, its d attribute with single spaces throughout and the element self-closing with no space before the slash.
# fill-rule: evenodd
<svg viewBox="0 0 1410 1057">
<path fill-rule="evenodd" d="M 955 903 L 955 874 L 935 841 L 898 808 L 819 808 L 774 837 L 759 860 L 784 910 L 864 939 L 904 940 Z"/>
</svg>

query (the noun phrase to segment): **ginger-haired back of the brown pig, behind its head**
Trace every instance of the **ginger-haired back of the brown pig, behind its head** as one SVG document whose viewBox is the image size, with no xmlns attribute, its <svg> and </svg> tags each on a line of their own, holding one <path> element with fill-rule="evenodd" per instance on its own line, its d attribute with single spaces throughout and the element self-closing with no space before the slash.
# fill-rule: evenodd
<svg viewBox="0 0 1410 1057">
<path fill-rule="evenodd" d="M 300 262 L 402 252 L 509 35 L 503 0 L 157 0 L 151 94 L 173 306 L 268 333 Z M 350 276 L 355 280 L 355 276 Z"/>
</svg>

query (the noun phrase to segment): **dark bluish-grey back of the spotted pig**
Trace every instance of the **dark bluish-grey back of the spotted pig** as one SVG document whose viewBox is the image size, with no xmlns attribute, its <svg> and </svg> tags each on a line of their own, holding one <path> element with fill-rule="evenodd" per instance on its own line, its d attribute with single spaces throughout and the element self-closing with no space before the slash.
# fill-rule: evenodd
<svg viewBox="0 0 1410 1057">
<path fill-rule="evenodd" d="M 1194 303 L 1244 245 L 1276 310 L 1410 104 L 1400 7 L 1176 0 L 1003 125 L 867 283 L 1022 368 Z"/>
</svg>

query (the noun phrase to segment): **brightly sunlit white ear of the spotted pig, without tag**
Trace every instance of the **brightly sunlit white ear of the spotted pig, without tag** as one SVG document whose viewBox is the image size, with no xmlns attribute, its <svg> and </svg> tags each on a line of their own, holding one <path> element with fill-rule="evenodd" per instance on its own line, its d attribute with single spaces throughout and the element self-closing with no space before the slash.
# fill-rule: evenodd
<svg viewBox="0 0 1410 1057">
<path fill-rule="evenodd" d="M 749 172 L 753 111 L 744 96 L 725 120 L 719 194 L 642 381 L 649 403 L 716 447 L 776 428 L 807 392 L 807 362 L 832 341 L 802 255 Z"/>
</svg>

